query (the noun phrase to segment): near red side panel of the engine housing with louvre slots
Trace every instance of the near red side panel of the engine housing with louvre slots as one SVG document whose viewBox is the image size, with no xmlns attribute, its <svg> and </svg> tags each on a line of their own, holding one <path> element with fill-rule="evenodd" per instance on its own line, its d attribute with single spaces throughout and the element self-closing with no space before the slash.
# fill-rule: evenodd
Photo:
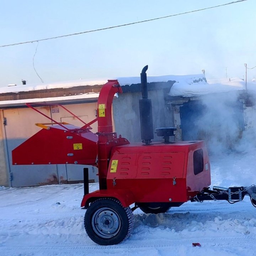
<svg viewBox="0 0 256 256">
<path fill-rule="evenodd" d="M 108 170 L 108 189 L 130 190 L 135 202 L 186 202 L 185 154 L 178 151 L 118 154 L 116 151 Z M 117 166 L 111 170 L 113 162 Z"/>
</svg>

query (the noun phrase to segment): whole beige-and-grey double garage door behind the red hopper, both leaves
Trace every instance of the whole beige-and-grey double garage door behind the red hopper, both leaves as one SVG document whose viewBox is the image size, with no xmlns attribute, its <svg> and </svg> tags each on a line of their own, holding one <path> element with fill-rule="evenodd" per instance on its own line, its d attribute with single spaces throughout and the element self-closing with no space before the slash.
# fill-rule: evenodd
<svg viewBox="0 0 256 256">
<path fill-rule="evenodd" d="M 94 108 L 96 103 L 87 103 L 91 105 L 88 116 L 80 116 L 80 118 L 88 122 L 89 119 L 95 118 Z M 73 112 L 84 113 L 85 105 L 70 105 L 68 108 Z M 72 109 L 73 108 L 73 109 Z M 88 108 L 88 107 L 87 107 Z M 60 111 L 52 112 L 50 107 L 38 107 L 38 109 L 54 118 L 56 121 L 65 121 L 74 125 L 82 126 L 76 119 L 70 117 L 70 114 Z M 8 156 L 11 186 L 37 186 L 45 184 L 58 183 L 74 183 L 83 180 L 83 168 L 89 168 L 89 180 L 98 181 L 98 170 L 96 167 L 85 165 L 12 165 L 11 151 L 37 133 L 40 129 L 34 123 L 48 123 L 49 119 L 32 111 L 30 108 L 16 108 L 3 110 L 3 116 L 6 120 L 4 130 L 6 137 L 6 151 Z M 92 126 L 94 129 L 97 124 Z"/>
</svg>

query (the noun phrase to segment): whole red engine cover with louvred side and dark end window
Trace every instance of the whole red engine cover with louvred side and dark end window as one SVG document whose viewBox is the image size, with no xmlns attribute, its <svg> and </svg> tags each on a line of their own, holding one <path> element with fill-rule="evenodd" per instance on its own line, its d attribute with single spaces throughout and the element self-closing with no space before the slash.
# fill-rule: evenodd
<svg viewBox="0 0 256 256">
<path fill-rule="evenodd" d="M 107 188 L 131 191 L 134 202 L 187 202 L 209 185 L 210 164 L 202 141 L 112 149 Z"/>
</svg>

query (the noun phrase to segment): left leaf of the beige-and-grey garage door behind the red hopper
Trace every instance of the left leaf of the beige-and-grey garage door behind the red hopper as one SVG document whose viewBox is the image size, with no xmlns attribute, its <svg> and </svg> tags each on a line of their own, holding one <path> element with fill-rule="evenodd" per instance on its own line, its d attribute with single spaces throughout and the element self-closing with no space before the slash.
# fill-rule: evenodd
<svg viewBox="0 0 256 256">
<path fill-rule="evenodd" d="M 48 115 L 50 110 L 49 107 L 42 107 L 40 111 Z M 11 151 L 38 132 L 38 127 L 34 125 L 35 120 L 44 123 L 48 122 L 48 119 L 28 108 L 7 109 L 3 111 L 3 115 L 5 118 L 5 135 L 11 186 L 24 187 L 58 184 L 56 165 L 12 165 Z"/>
</svg>

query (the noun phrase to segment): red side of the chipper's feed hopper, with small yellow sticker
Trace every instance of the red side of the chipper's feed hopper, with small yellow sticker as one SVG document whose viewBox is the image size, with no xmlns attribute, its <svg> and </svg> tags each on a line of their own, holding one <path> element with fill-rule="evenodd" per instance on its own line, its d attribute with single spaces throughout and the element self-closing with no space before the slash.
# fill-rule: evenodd
<svg viewBox="0 0 256 256">
<path fill-rule="evenodd" d="M 97 135 L 63 129 L 42 129 L 12 150 L 12 163 L 29 164 L 87 164 L 97 157 Z"/>
</svg>

